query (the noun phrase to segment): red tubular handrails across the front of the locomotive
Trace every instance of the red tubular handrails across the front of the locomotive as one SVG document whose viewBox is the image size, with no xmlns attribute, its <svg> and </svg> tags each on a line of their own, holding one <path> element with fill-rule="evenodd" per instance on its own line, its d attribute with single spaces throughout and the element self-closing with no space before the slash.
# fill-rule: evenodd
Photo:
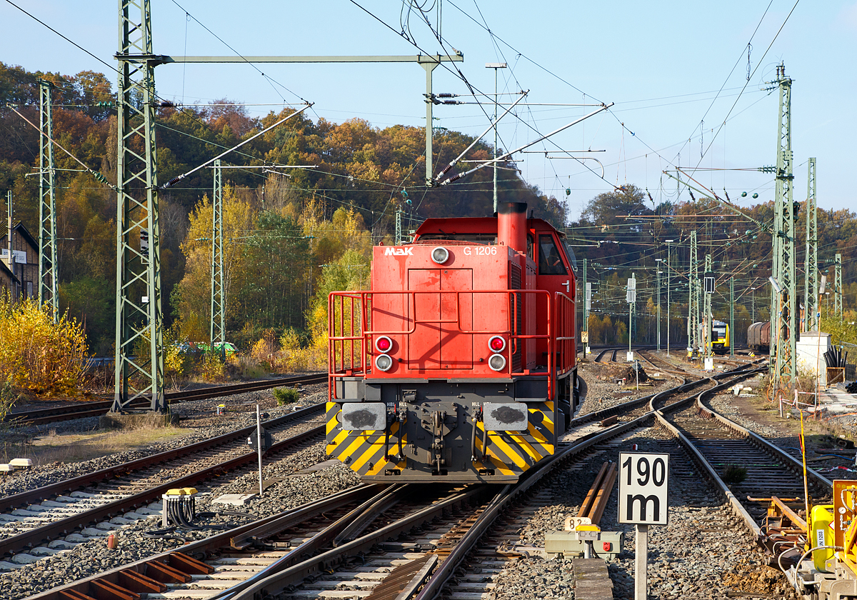
<svg viewBox="0 0 857 600">
<path fill-rule="evenodd" d="M 456 318 L 455 319 L 417 319 L 417 294 L 455 294 L 456 295 Z M 507 321 L 505 330 L 500 328 L 492 328 L 486 330 L 464 329 L 461 327 L 461 295 L 462 294 L 508 294 L 510 299 L 509 315 L 510 321 Z M 535 295 L 545 298 L 545 314 L 548 317 L 547 333 L 544 334 L 512 334 L 518 330 L 518 294 Z M 372 297 L 381 295 L 407 295 L 408 311 L 414 318 L 403 317 L 403 315 L 395 315 L 398 318 L 404 319 L 410 324 L 407 330 L 378 330 L 371 329 Z M 346 300 L 349 302 L 346 310 Z M 355 303 L 360 303 L 359 310 L 356 311 Z M 457 332 L 463 335 L 474 334 L 506 334 L 510 344 L 506 350 L 506 375 L 550 375 L 557 372 L 559 375 L 566 373 L 573 367 L 576 348 L 574 347 L 574 332 L 573 332 L 573 313 L 574 303 L 571 298 L 565 294 L 556 292 L 554 303 L 550 302 L 550 292 L 546 290 L 462 290 L 462 291 L 437 291 L 437 290 L 405 290 L 405 291 L 333 291 L 328 298 L 328 370 L 331 382 L 337 377 L 345 377 L 350 375 L 362 374 L 365 371 L 365 365 L 371 364 L 372 347 L 371 336 L 373 335 L 395 335 L 408 336 L 414 333 L 419 324 L 452 324 L 457 327 Z M 554 322 L 561 322 L 561 327 L 556 327 Z M 370 328 L 363 329 L 363 323 L 369 324 Z M 357 326 L 357 330 L 355 329 Z M 350 332 L 346 335 L 346 328 Z M 554 337 L 554 330 L 560 333 Z M 341 333 L 336 335 L 335 333 Z M 571 333 L 571 335 L 566 335 Z M 548 365 L 544 371 L 532 371 L 524 369 L 522 371 L 512 372 L 512 361 L 508 360 L 518 351 L 518 340 L 523 339 L 547 339 L 548 340 Z M 555 344 L 561 344 L 561 347 Z M 407 348 L 407 360 L 411 362 L 410 345 L 403 345 Z M 554 364 L 559 371 L 554 371 Z M 554 385 L 553 378 L 548 378 L 548 393 L 552 393 Z M 333 386 L 331 386 L 333 390 Z"/>
</svg>

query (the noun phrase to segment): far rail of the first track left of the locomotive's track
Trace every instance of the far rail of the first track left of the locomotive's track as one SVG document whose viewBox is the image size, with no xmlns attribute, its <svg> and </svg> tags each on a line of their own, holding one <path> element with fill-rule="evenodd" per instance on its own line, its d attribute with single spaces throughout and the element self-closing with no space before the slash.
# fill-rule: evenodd
<svg viewBox="0 0 857 600">
<path fill-rule="evenodd" d="M 290 412 L 282 417 L 270 419 L 263 424 L 266 427 L 275 427 L 283 423 L 288 423 L 294 419 L 309 417 L 316 412 L 323 411 L 324 406 L 325 405 L 323 404 L 307 406 L 306 408 Z M 26 492 L 5 496 L 0 498 L 0 512 L 15 510 L 15 508 L 21 507 L 22 505 L 36 504 L 39 501 L 47 500 L 55 495 L 60 495 L 75 489 L 86 488 L 87 486 L 93 485 L 93 483 L 99 483 L 115 477 L 122 477 L 128 473 L 140 471 L 141 469 L 158 465 L 159 463 L 163 463 L 167 460 L 177 459 L 188 454 L 201 452 L 202 450 L 206 450 L 210 447 L 220 446 L 222 444 L 241 439 L 246 435 L 250 435 L 255 430 L 255 425 L 245 427 L 243 429 L 236 429 L 235 431 L 230 431 L 229 433 L 218 435 L 207 440 L 197 441 L 189 446 L 173 448 L 172 450 L 146 456 L 142 459 L 135 459 L 127 463 L 122 463 L 121 465 L 115 465 L 99 471 L 93 471 L 86 475 L 72 477 L 71 479 L 65 479 L 57 483 L 50 483 L 40 488 L 30 489 Z"/>
</svg>

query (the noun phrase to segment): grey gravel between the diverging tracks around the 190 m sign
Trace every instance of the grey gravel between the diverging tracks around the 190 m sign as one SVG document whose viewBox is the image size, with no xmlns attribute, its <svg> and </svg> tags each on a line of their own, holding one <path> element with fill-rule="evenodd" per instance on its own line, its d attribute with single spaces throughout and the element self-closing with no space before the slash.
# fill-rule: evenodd
<svg viewBox="0 0 857 600">
<path fill-rule="evenodd" d="M 590 394 L 594 392 L 596 397 L 608 395 L 614 388 L 604 381 L 590 384 L 590 379 L 594 378 L 587 378 L 586 382 Z M 728 407 L 728 397 L 718 396 L 716 405 Z M 747 421 L 745 426 L 757 428 L 754 430 L 764 429 L 764 425 L 741 420 L 742 423 L 744 421 Z M 679 465 L 685 467 L 689 460 L 683 450 L 673 441 L 663 439 L 663 435 L 656 429 L 647 429 L 624 441 L 620 449 L 611 448 L 597 454 L 583 468 L 571 467 L 552 476 L 548 489 L 553 493 L 554 501 L 551 506 L 536 510 L 519 534 L 520 543 L 543 547 L 546 531 L 561 530 L 566 517 L 578 513 L 602 462 L 618 460 L 620 450 L 630 450 L 631 444 L 637 443 L 638 452 L 671 453 L 673 457 L 668 525 L 649 528 L 650 597 L 723 598 L 730 591 L 740 595 L 758 593 L 770 597 L 794 597 L 782 573 L 766 566 L 764 551 L 716 489 L 701 475 L 680 477 L 677 468 Z M 625 533 L 622 553 L 617 559 L 608 559 L 608 570 L 614 582 L 614 597 L 630 599 L 634 585 L 634 528 L 616 522 L 617 495 L 618 489 L 614 487 L 601 527 L 604 531 Z M 573 597 L 571 586 L 571 560 L 544 560 L 537 556 L 518 558 L 510 561 L 497 578 L 494 597 L 497 600 L 566 600 Z"/>
</svg>

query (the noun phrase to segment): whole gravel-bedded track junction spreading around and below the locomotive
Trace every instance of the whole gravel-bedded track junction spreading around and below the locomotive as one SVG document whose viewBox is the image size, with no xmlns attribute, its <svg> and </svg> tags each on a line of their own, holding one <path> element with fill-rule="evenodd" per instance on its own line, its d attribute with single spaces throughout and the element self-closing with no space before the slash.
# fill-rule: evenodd
<svg viewBox="0 0 857 600">
<path fill-rule="evenodd" d="M 675 353 L 635 354 L 639 384 L 618 376 L 626 349 L 615 362 L 609 351 L 580 363 L 578 414 L 554 456 L 514 485 L 361 484 L 324 456 L 323 389 L 308 390 L 299 411 L 268 398 L 265 491 L 240 507 L 215 503 L 258 492 L 243 441 L 252 423 L 237 417 L 217 436 L 177 438 L 145 460 L 117 455 L 75 477 L 47 465 L 15 472 L 0 483 L 0 597 L 632 597 L 632 526 L 617 523 L 605 477 L 632 451 L 670 455 L 668 525 L 650 527 L 652 597 L 789 597 L 765 549 L 765 517 L 771 497 L 804 510 L 800 419 L 781 418 L 764 398 L 758 359 L 723 357 L 704 373 Z M 857 478 L 855 451 L 838 437 L 848 431 L 805 425 L 818 504 L 833 478 Z M 165 487 L 198 489 L 192 523 L 162 525 Z M 622 534 L 618 543 L 599 543 L 589 559 L 548 552 L 546 538 L 582 514 Z"/>
</svg>

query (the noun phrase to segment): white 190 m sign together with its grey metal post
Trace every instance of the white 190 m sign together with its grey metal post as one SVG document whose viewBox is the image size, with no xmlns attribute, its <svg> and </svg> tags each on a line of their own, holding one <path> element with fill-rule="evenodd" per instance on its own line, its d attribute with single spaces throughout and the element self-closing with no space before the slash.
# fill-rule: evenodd
<svg viewBox="0 0 857 600">
<path fill-rule="evenodd" d="M 646 600 L 649 525 L 667 525 L 668 490 L 669 454 L 619 453 L 618 521 L 636 525 L 634 600 Z"/>
</svg>

